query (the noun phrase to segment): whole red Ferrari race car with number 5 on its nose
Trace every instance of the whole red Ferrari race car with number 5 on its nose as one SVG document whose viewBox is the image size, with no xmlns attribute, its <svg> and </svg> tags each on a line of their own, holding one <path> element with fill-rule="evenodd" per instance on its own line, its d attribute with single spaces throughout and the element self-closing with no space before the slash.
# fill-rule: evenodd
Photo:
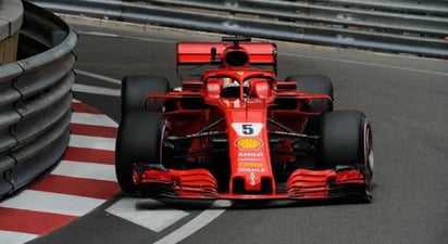
<svg viewBox="0 0 448 244">
<path fill-rule="evenodd" d="M 361 112 L 333 111 L 327 77 L 278 80 L 276 46 L 245 37 L 176 49 L 177 72 L 212 67 L 175 88 L 160 76 L 123 79 L 115 151 L 123 192 L 370 200 L 371 126 Z"/>
</svg>

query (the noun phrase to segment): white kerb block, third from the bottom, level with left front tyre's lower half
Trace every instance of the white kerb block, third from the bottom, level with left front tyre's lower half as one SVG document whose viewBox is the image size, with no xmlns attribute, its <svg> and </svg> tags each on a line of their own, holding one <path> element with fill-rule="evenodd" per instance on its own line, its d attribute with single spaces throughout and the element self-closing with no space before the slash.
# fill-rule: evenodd
<svg viewBox="0 0 448 244">
<path fill-rule="evenodd" d="M 61 160 L 51 175 L 116 182 L 115 167 L 104 164 Z"/>
</svg>

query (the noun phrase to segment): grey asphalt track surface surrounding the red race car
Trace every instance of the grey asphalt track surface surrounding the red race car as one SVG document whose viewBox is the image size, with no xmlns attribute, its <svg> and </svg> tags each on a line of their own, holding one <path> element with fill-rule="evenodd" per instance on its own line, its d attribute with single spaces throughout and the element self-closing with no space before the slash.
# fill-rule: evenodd
<svg viewBox="0 0 448 244">
<path fill-rule="evenodd" d="M 80 38 L 76 68 L 121 79 L 128 74 L 175 76 L 176 41 L 215 41 L 217 36 L 166 29 L 133 31 L 74 26 Z M 109 36 L 99 33 L 113 34 Z M 117 35 L 117 36 L 115 36 Z M 448 63 L 278 43 L 279 78 L 323 74 L 333 79 L 336 110 L 360 110 L 374 133 L 374 201 L 371 204 L 248 203 L 212 207 L 213 221 L 182 243 L 448 243 Z M 77 84 L 116 90 L 91 76 Z M 75 92 L 75 98 L 120 120 L 120 99 Z M 104 211 L 113 200 L 34 244 L 152 243 L 182 229 L 209 203 L 181 202 L 152 209 L 181 208 L 189 215 L 153 232 Z M 151 219 L 148 219 L 151 221 Z M 167 239 L 166 243 L 175 239 Z"/>
</svg>

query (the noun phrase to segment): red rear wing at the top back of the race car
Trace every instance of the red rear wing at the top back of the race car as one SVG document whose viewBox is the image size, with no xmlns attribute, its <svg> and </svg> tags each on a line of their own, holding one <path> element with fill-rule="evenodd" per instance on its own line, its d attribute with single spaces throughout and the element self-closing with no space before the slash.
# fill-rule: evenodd
<svg viewBox="0 0 448 244">
<path fill-rule="evenodd" d="M 270 42 L 179 42 L 176 49 L 177 67 L 181 65 L 221 64 L 223 53 L 229 49 L 244 49 L 249 65 L 269 65 L 276 73 L 277 47 Z"/>
</svg>

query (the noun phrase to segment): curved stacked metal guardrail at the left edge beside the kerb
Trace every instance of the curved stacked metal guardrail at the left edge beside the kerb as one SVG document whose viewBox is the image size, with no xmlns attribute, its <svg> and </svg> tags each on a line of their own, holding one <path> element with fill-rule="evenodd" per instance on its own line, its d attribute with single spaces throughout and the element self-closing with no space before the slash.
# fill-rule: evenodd
<svg viewBox="0 0 448 244">
<path fill-rule="evenodd" d="M 77 36 L 24 2 L 17 62 L 0 66 L 0 196 L 57 163 L 69 143 Z"/>
</svg>

